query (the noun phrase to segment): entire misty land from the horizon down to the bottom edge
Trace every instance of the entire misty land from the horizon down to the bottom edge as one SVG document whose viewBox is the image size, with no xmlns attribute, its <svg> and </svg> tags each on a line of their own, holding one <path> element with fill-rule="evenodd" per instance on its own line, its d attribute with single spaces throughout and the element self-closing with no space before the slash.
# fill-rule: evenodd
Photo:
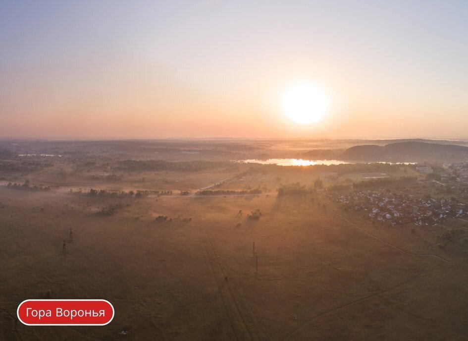
<svg viewBox="0 0 468 341">
<path fill-rule="evenodd" d="M 465 145 L 2 141 L 0 333 L 464 340 Z M 14 315 L 25 299 L 88 298 L 111 302 L 110 324 Z"/>
</svg>

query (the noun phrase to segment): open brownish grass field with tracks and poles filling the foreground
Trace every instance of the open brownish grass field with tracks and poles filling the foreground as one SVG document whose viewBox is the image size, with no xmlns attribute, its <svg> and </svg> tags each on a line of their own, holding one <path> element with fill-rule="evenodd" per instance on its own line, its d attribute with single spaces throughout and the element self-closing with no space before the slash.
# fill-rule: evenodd
<svg viewBox="0 0 468 341">
<path fill-rule="evenodd" d="M 323 192 L 276 194 L 278 176 L 148 172 L 120 181 L 46 172 L 30 192 L 0 187 L 1 340 L 466 340 L 468 260 L 437 228 L 372 226 Z M 238 170 L 236 170 L 238 171 Z M 86 175 L 87 176 L 87 175 Z M 145 182 L 140 179 L 145 176 Z M 87 177 L 86 177 L 87 178 Z M 266 186 L 260 195 L 193 195 Z M 78 188 L 173 190 L 89 197 Z M 189 190 L 190 195 L 178 195 Z M 176 194 L 177 193 L 177 194 Z M 312 198 L 314 200 L 312 200 Z M 323 207 L 326 205 L 326 208 Z M 112 215 L 99 212 L 116 207 Z M 260 219 L 249 219 L 259 210 Z M 257 212 L 259 212 L 257 211 Z M 167 216 L 167 219 L 156 219 Z M 62 254 L 61 241 L 73 228 Z M 256 257 L 258 256 L 258 272 Z M 104 327 L 28 327 L 32 298 L 103 298 Z M 128 331 L 121 335 L 121 331 Z"/>
</svg>

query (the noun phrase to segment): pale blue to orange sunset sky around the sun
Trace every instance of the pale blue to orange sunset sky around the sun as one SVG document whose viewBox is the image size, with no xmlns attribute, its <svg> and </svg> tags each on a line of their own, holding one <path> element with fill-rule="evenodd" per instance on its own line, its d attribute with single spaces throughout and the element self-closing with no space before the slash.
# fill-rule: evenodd
<svg viewBox="0 0 468 341">
<path fill-rule="evenodd" d="M 0 138 L 468 138 L 468 1 L 0 0 Z M 282 110 L 300 82 L 318 123 Z"/>
</svg>

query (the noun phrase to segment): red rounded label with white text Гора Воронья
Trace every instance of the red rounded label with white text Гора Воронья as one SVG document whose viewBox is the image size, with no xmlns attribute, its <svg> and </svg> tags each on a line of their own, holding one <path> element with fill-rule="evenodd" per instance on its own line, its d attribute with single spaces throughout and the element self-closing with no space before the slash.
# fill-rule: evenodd
<svg viewBox="0 0 468 341">
<path fill-rule="evenodd" d="M 27 299 L 16 313 L 27 326 L 104 326 L 114 307 L 105 299 Z"/>
</svg>

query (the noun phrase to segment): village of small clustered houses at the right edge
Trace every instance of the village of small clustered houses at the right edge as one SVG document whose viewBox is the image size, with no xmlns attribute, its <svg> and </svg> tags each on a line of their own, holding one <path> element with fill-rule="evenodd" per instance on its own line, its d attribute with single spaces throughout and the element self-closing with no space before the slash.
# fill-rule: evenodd
<svg viewBox="0 0 468 341">
<path fill-rule="evenodd" d="M 407 185 L 363 189 L 354 184 L 354 190 L 328 190 L 327 196 L 346 211 L 363 212 L 372 224 L 435 227 L 468 215 L 467 163 L 445 164 L 437 173 L 429 166 L 416 171 L 425 176 Z"/>
</svg>

